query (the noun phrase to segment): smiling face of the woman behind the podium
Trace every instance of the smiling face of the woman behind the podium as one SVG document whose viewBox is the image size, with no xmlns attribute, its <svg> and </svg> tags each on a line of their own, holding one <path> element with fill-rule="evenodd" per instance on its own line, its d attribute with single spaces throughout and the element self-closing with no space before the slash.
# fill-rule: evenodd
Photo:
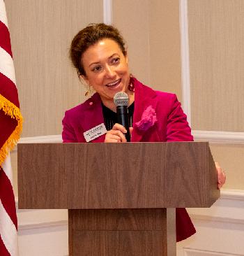
<svg viewBox="0 0 244 256">
<path fill-rule="evenodd" d="M 113 100 L 116 92 L 128 92 L 128 57 L 116 41 L 105 38 L 91 45 L 81 61 L 86 72 L 82 78 L 100 94 L 103 102 Z"/>
</svg>

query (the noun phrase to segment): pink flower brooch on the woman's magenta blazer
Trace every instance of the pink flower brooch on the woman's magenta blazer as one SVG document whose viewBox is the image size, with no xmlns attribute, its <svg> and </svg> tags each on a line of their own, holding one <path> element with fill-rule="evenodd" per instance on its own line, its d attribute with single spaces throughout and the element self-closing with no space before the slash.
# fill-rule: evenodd
<svg viewBox="0 0 244 256">
<path fill-rule="evenodd" d="M 142 120 L 135 123 L 135 126 L 141 130 L 146 131 L 157 122 L 156 111 L 152 106 L 148 106 L 144 113 L 142 113 Z"/>
</svg>

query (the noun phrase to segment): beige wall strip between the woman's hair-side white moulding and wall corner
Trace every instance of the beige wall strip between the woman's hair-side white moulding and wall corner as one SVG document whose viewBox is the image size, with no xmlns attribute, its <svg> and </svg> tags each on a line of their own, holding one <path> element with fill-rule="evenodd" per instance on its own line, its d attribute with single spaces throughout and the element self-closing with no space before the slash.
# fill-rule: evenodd
<svg viewBox="0 0 244 256">
<path fill-rule="evenodd" d="M 149 84 L 148 1 L 142 4 L 140 0 L 113 0 L 112 23 L 125 38 L 130 72 L 142 83 Z"/>
</svg>

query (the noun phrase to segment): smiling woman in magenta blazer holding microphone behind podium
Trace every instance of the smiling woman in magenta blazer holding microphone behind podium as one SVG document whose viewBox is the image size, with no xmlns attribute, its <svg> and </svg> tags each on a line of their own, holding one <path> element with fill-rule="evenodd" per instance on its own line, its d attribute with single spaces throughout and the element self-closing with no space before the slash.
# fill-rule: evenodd
<svg viewBox="0 0 244 256">
<path fill-rule="evenodd" d="M 126 142 L 125 128 L 116 123 L 114 94 L 126 92 L 131 141 L 193 141 L 190 127 L 175 94 L 156 92 L 130 76 L 128 55 L 119 31 L 106 24 L 90 24 L 79 31 L 70 47 L 79 78 L 96 91 L 83 104 L 66 111 L 63 142 Z M 105 123 L 102 135 L 91 139 L 86 131 Z M 86 137 L 86 138 L 85 138 Z M 219 187 L 225 182 L 218 166 Z M 176 239 L 195 233 L 185 211 L 176 209 Z"/>
</svg>

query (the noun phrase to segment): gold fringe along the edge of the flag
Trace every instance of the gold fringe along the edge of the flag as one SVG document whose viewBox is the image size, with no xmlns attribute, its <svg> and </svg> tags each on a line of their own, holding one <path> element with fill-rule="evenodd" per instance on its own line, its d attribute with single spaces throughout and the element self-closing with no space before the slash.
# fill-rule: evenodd
<svg viewBox="0 0 244 256">
<path fill-rule="evenodd" d="M 11 101 L 3 97 L 1 94 L 0 94 L 0 109 L 2 109 L 3 112 L 6 113 L 6 115 L 10 115 L 11 118 L 14 118 L 15 120 L 17 120 L 17 126 L 15 127 L 15 130 L 8 137 L 7 141 L 3 144 L 3 146 L 0 149 L 0 166 L 1 166 L 1 164 L 3 164 L 4 160 L 6 159 L 8 152 L 10 152 L 11 150 L 13 150 L 13 148 L 15 148 L 17 141 L 20 139 L 20 134 L 22 132 L 23 118 L 20 113 L 20 108 L 17 108 L 15 104 L 13 104 Z"/>
</svg>

